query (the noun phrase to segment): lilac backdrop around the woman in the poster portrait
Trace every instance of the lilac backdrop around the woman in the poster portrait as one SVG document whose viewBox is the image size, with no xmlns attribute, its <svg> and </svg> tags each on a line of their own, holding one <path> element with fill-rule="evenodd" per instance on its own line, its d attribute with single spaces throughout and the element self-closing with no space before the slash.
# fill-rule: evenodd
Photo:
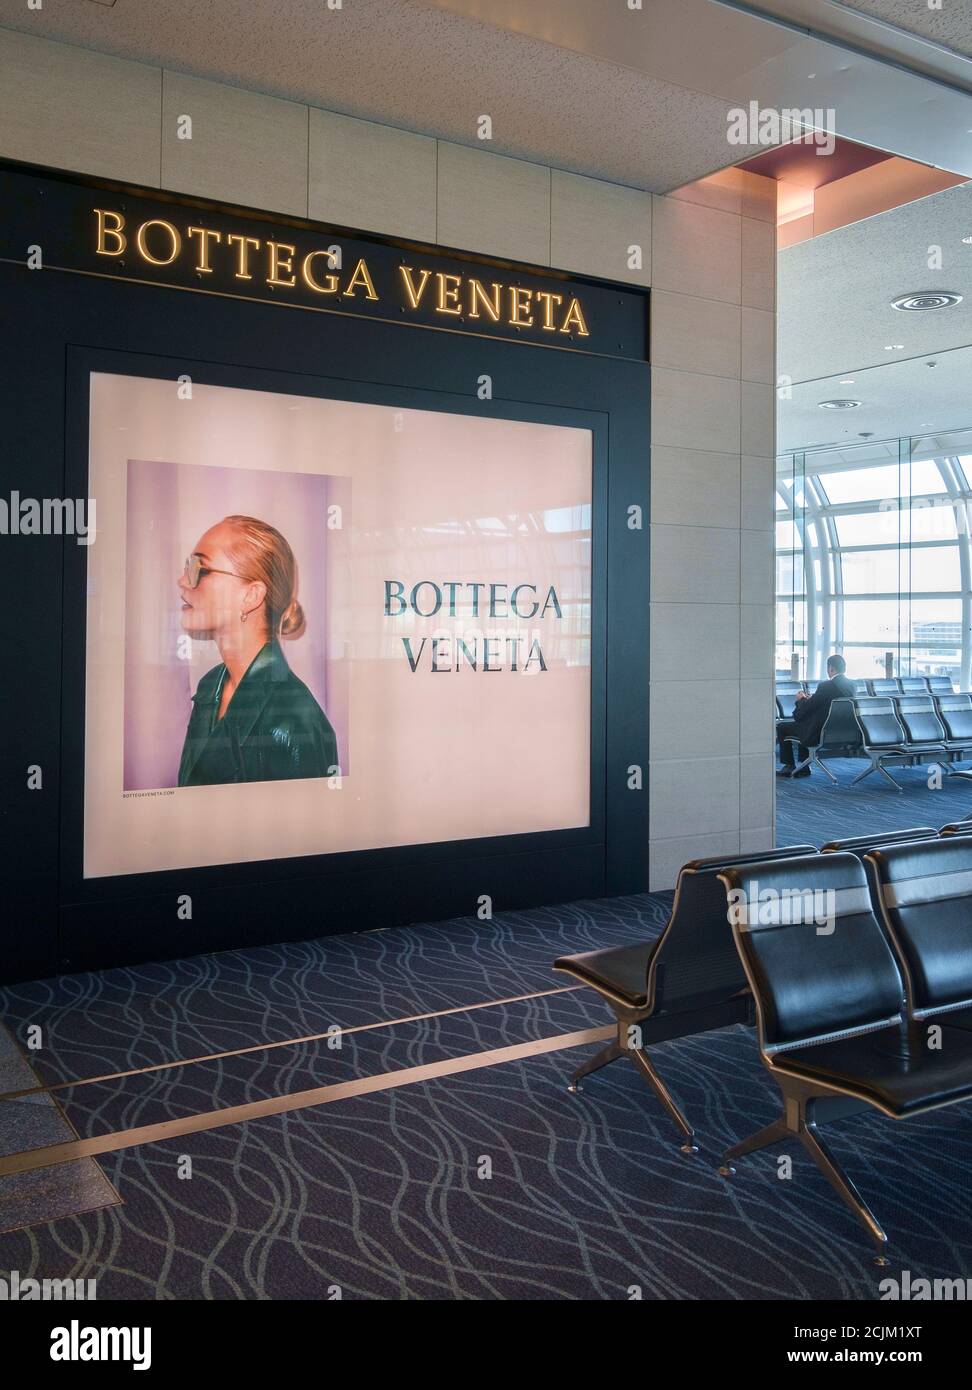
<svg viewBox="0 0 972 1390">
<path fill-rule="evenodd" d="M 128 460 L 125 791 L 178 784 L 192 694 L 220 653 L 214 642 L 193 642 L 192 662 L 179 655 L 177 581 L 203 531 L 232 513 L 268 521 L 291 543 L 307 627 L 281 648 L 331 720 L 341 769 L 349 770 L 348 666 L 327 659 L 327 516 L 337 503 L 346 524 L 349 498 L 350 480 L 327 474 Z"/>
</svg>

